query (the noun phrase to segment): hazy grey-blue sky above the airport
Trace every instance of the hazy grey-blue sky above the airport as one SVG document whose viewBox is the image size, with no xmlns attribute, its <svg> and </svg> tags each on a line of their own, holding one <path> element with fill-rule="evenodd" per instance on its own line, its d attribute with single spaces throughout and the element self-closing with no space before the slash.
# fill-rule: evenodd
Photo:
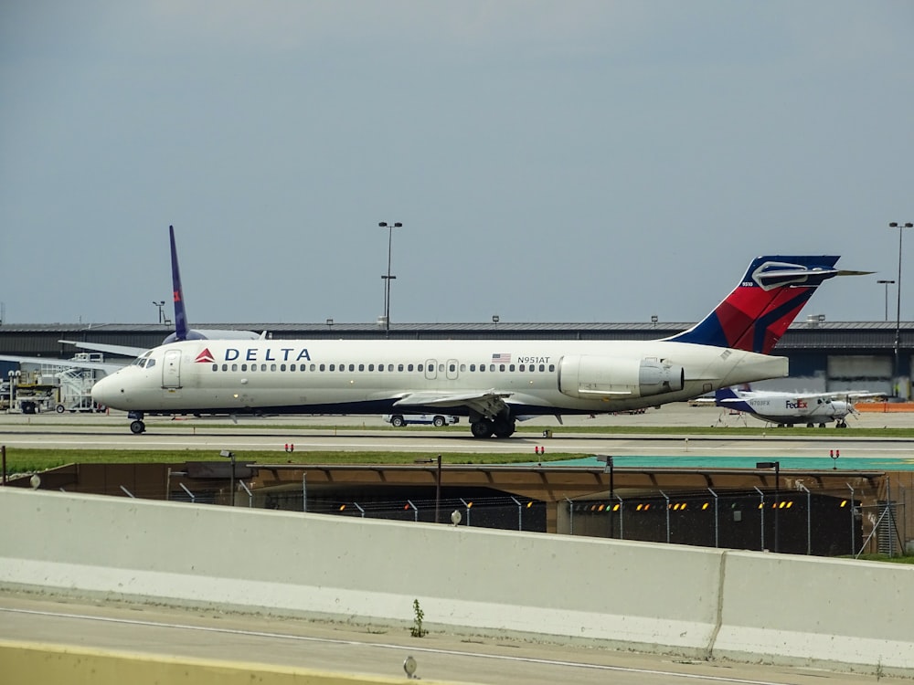
<svg viewBox="0 0 914 685">
<path fill-rule="evenodd" d="M 5 320 L 697 321 L 914 221 L 914 4 L 3 2 Z M 914 230 L 902 319 L 914 319 Z M 890 287 L 889 319 L 895 319 Z"/>
</svg>

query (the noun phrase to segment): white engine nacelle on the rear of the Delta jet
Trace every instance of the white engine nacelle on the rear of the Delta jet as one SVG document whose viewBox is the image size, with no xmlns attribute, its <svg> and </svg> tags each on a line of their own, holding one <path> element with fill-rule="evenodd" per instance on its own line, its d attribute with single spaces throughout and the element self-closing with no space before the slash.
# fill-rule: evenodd
<svg viewBox="0 0 914 685">
<path fill-rule="evenodd" d="M 685 369 L 657 359 L 622 359 L 592 354 L 562 357 L 558 389 L 579 399 L 626 399 L 682 390 Z"/>
</svg>

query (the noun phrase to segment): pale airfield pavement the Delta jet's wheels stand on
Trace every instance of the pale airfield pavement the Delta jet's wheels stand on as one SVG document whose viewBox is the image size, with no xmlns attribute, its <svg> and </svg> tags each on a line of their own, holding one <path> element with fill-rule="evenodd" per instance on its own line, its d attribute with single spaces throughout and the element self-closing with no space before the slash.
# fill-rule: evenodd
<svg viewBox="0 0 914 685">
<path fill-rule="evenodd" d="M 747 423 L 749 421 L 749 423 Z M 407 452 L 467 454 L 487 452 L 529 454 L 531 462 L 548 455 L 590 458 L 611 454 L 616 464 L 648 468 L 751 468 L 756 461 L 778 459 L 782 469 L 914 469 L 914 439 L 856 437 L 855 427 L 912 427 L 914 415 L 864 414 L 845 429 L 772 427 L 762 435 L 728 435 L 728 427 L 756 426 L 760 422 L 730 416 L 716 407 L 664 406 L 643 415 L 569 416 L 564 426 L 554 417 L 541 417 L 508 439 L 479 440 L 469 427 L 388 427 L 379 416 L 241 416 L 228 418 L 166 416 L 147 418 L 147 432 L 134 436 L 126 416 L 107 415 L 0 415 L 0 444 L 12 448 L 162 449 L 275 451 L 279 457 L 294 445 L 296 458 L 309 451 Z M 582 432 L 581 427 L 681 428 L 673 436 L 611 435 Z M 720 427 L 719 434 L 689 435 L 690 427 Z M 552 436 L 543 432 L 551 430 Z M 283 457 L 283 460 L 285 458 Z M 571 461 L 595 465 L 590 461 Z"/>
</svg>

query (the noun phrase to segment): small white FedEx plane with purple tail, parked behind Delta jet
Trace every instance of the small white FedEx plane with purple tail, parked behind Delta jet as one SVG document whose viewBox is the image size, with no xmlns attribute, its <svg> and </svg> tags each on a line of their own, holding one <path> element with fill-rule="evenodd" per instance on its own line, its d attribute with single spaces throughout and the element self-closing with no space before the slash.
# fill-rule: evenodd
<svg viewBox="0 0 914 685">
<path fill-rule="evenodd" d="M 737 390 L 721 388 L 714 394 L 714 404 L 755 416 L 761 421 L 778 427 L 818 424 L 824 428 L 834 421 L 834 427 L 846 428 L 845 418 L 858 414 L 853 398 L 875 397 L 878 393 L 777 393 L 764 390 Z"/>
</svg>

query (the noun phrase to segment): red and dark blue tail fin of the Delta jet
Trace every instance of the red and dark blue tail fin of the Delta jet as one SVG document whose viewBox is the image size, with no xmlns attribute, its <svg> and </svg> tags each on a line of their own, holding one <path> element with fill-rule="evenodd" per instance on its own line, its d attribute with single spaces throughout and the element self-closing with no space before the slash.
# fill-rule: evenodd
<svg viewBox="0 0 914 685">
<path fill-rule="evenodd" d="M 755 258 L 739 285 L 717 308 L 672 342 L 695 342 L 771 353 L 824 280 L 838 276 L 834 256 Z"/>
</svg>

